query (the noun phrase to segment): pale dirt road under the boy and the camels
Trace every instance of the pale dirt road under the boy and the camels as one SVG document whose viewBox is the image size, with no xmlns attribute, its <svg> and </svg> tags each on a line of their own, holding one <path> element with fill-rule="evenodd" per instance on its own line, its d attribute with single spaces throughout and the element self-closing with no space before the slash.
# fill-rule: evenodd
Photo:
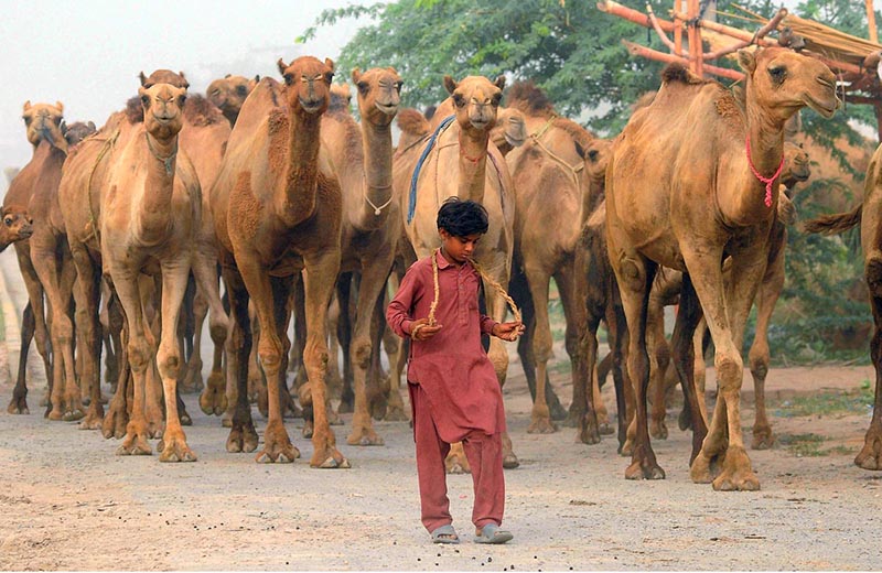
<svg viewBox="0 0 882 573">
<path fill-rule="evenodd" d="M 12 283 L 17 275 L 0 267 Z M 430 543 L 419 522 L 407 423 L 377 423 L 381 447 L 346 446 L 347 426 L 337 426 L 353 467 L 320 471 L 308 465 L 312 446 L 300 437 L 302 421 L 291 420 L 303 457 L 258 465 L 251 455 L 224 451 L 227 430 L 191 396 L 194 425 L 185 430 L 198 462 L 169 465 L 155 455 L 118 457 L 116 441 L 44 420 L 36 403 L 44 382 L 35 381 L 34 413 L 14 417 L 3 408 L 0 414 L 0 569 L 882 569 L 882 474 L 852 465 L 870 411 L 783 415 L 785 400 L 860 387 L 872 377 L 869 367 L 772 370 L 771 412 L 778 414 L 773 425 L 781 440 L 773 450 L 750 452 L 762 489 L 735 494 L 689 480 L 689 436 L 676 429 L 676 412 L 667 421 L 670 437 L 654 442 L 667 472 L 658 482 L 625 480 L 627 460 L 616 455 L 611 436 L 587 446 L 569 428 L 527 434 L 529 400 L 518 368 L 513 365 L 504 391 L 521 461 L 506 473 L 505 527 L 515 540 L 492 548 L 471 542 L 467 475 L 449 477 L 454 525 L 465 542 Z M 0 364 L 3 407 L 12 391 L 4 372 Z M 569 403 L 570 387 L 556 383 Z M 753 422 L 749 388 L 745 435 Z M 604 397 L 612 408 L 612 396 Z M 259 414 L 256 421 L 262 432 Z M 826 455 L 798 457 L 784 444 L 800 435 L 819 436 L 822 447 L 814 453 Z"/>
</svg>

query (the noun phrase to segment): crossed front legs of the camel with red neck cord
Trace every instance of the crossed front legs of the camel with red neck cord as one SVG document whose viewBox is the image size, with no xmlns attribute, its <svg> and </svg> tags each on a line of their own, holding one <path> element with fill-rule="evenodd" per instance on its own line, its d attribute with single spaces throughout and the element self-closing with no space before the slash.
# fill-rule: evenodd
<svg viewBox="0 0 882 573">
<path fill-rule="evenodd" d="M 693 482 L 712 483 L 718 490 L 756 490 L 760 480 L 751 467 L 741 432 L 740 394 L 744 367 L 740 352 L 743 333 L 739 335 L 738 327 L 743 328 L 746 316 L 735 323 L 733 315 L 739 312 L 746 314 L 750 310 L 754 285 L 762 279 L 765 264 L 764 261 L 744 264 L 743 260 L 733 260 L 732 277 L 739 280 L 729 289 L 733 295 L 727 298 L 719 249 L 698 251 L 685 248 L 682 255 L 717 348 L 714 367 L 719 388 L 708 435 L 689 473 Z"/>
</svg>

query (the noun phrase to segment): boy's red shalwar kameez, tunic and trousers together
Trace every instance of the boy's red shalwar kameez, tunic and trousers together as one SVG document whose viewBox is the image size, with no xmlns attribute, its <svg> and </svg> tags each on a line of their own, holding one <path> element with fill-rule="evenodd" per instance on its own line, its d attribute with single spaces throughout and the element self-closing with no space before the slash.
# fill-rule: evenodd
<svg viewBox="0 0 882 573">
<path fill-rule="evenodd" d="M 442 328 L 428 340 L 410 340 L 407 379 L 413 412 L 422 525 L 429 532 L 451 523 L 444 458 L 462 442 L 472 467 L 475 500 L 472 522 L 501 525 L 505 480 L 501 435 L 503 396 L 481 335 L 497 324 L 478 312 L 481 278 L 471 263 L 456 267 L 439 252 L 435 322 Z M 386 320 L 398 336 L 429 315 L 434 296 L 431 257 L 413 263 L 389 303 Z"/>
</svg>

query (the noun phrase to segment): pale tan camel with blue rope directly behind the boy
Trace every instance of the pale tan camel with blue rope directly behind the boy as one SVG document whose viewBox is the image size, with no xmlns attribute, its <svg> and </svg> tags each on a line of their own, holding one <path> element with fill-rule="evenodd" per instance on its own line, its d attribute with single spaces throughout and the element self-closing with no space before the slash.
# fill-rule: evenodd
<svg viewBox="0 0 882 573">
<path fill-rule="evenodd" d="M 504 76 L 495 83 L 482 76 L 469 76 L 459 83 L 444 76 L 454 119 L 439 126 L 437 136 L 426 144 L 396 152 L 392 185 L 407 236 L 407 241 L 399 242 L 406 252 L 406 264 L 428 257 L 440 245 L 438 208 L 447 197 L 455 195 L 487 209 L 490 231 L 481 239 L 474 258 L 497 284 L 508 283 L 514 248 L 514 185 L 505 159 L 490 142 L 504 86 Z M 503 321 L 505 299 L 490 284 L 485 284 L 484 293 L 487 314 Z M 491 339 L 487 354 L 499 383 L 504 383 L 508 355 L 498 338 Z M 507 434 L 503 436 L 503 456 L 506 467 L 518 465 Z M 461 465 L 464 469 L 464 462 Z"/>
</svg>

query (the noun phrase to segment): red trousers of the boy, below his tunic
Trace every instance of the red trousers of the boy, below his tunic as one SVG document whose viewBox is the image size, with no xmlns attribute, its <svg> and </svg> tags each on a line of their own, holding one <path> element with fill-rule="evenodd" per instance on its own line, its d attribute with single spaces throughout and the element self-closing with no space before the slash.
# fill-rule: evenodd
<svg viewBox="0 0 882 573">
<path fill-rule="evenodd" d="M 417 443 L 417 475 L 420 484 L 422 525 L 429 532 L 453 521 L 450 516 L 444 458 L 450 444 L 438 435 L 429 399 L 422 387 L 408 383 L 413 412 L 413 440 Z M 462 441 L 472 466 L 475 500 L 472 522 L 477 528 L 503 522 L 505 477 L 501 435 L 470 432 Z"/>
</svg>

